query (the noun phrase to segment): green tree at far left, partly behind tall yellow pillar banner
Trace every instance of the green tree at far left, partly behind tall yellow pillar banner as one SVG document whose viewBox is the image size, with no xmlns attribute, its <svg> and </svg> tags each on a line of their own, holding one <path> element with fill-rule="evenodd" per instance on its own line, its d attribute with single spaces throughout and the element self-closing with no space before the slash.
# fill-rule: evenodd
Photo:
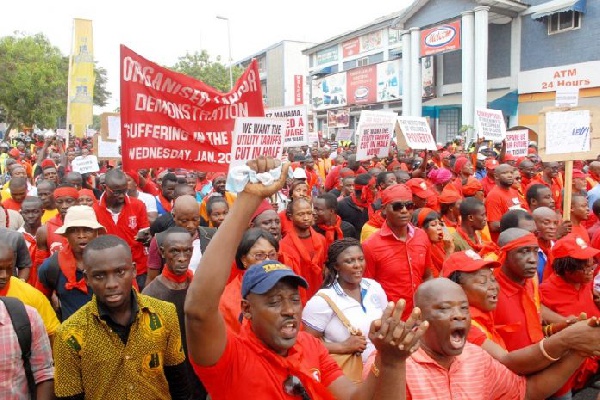
<svg viewBox="0 0 600 400">
<path fill-rule="evenodd" d="M 105 106 L 106 70 L 94 66 L 94 104 Z M 67 113 L 69 58 L 41 33 L 0 38 L 0 119 L 12 127 L 56 128 Z"/>
</svg>

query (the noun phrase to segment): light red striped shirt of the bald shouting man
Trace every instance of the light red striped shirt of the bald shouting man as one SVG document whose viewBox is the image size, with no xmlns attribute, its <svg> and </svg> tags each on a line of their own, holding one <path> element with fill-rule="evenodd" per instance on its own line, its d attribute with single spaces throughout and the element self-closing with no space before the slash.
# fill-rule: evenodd
<svg viewBox="0 0 600 400">
<path fill-rule="evenodd" d="M 481 347 L 467 343 L 447 370 L 421 348 L 406 360 L 406 398 L 493 400 L 525 398 L 525 377 L 516 375 Z"/>
</svg>

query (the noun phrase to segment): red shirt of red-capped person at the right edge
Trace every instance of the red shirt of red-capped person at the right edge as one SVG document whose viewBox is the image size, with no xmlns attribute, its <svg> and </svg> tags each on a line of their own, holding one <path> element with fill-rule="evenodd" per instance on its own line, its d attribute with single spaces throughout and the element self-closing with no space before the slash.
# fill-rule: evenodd
<svg viewBox="0 0 600 400">
<path fill-rule="evenodd" d="M 600 317 L 600 310 L 594 303 L 592 285 L 593 282 L 588 282 L 577 289 L 560 276 L 552 274 L 540 285 L 542 304 L 563 317 L 579 316 L 582 312 L 588 318 Z"/>
</svg>

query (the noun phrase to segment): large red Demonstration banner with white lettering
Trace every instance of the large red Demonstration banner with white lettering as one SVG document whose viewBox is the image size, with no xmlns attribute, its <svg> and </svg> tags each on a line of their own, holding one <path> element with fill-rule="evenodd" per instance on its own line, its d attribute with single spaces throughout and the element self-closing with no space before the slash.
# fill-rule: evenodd
<svg viewBox="0 0 600 400">
<path fill-rule="evenodd" d="M 226 172 L 237 117 L 262 117 L 253 60 L 229 93 L 146 60 L 121 45 L 121 154 L 124 170 Z"/>
</svg>

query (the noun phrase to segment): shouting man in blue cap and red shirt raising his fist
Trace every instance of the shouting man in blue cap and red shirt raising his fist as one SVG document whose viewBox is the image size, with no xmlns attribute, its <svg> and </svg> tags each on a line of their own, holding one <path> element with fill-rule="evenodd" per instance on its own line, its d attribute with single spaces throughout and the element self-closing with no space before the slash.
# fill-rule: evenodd
<svg viewBox="0 0 600 400">
<path fill-rule="evenodd" d="M 248 162 L 257 173 L 277 167 L 261 157 Z M 218 311 L 229 266 L 252 214 L 284 184 L 288 166 L 270 186 L 249 183 L 202 256 L 188 289 L 185 314 L 188 352 L 213 400 L 221 399 L 398 399 L 404 398 L 406 358 L 428 323 L 414 310 L 406 323 L 405 303 L 389 304 L 369 337 L 379 351 L 365 381 L 353 384 L 316 338 L 300 331 L 304 278 L 277 261 L 250 267 L 242 281 L 241 332 L 228 332 Z M 226 268 L 224 268 L 226 266 Z M 293 396 L 293 397 L 291 397 Z"/>
</svg>

